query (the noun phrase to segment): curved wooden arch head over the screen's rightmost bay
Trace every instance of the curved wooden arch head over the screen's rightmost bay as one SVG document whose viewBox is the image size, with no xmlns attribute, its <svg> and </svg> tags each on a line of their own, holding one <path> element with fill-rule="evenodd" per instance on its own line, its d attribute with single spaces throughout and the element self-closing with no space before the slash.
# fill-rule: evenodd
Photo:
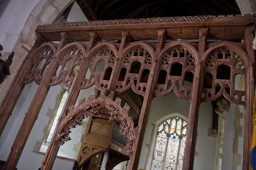
<svg viewBox="0 0 256 170">
<path fill-rule="evenodd" d="M 248 56 L 248 54 L 243 49 L 241 49 L 240 47 L 238 47 L 234 44 L 231 44 L 229 42 L 222 42 L 222 43 L 216 44 L 215 46 L 212 46 L 211 48 L 206 50 L 204 52 L 204 55 L 203 55 L 203 63 L 206 62 L 208 56 L 212 52 L 214 52 L 216 50 L 219 50 L 221 48 L 229 48 L 229 49 L 233 50 L 234 52 L 236 52 L 237 54 L 239 54 L 239 56 L 241 56 L 243 61 L 245 62 L 246 68 L 248 68 L 248 65 L 249 65 L 249 61 L 248 61 L 249 56 Z"/>
</svg>

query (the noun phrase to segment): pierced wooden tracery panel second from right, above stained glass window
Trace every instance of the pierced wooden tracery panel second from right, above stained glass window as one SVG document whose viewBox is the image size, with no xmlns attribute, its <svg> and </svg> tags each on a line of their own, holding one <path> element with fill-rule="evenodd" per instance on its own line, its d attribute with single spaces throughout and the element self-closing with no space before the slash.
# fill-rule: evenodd
<svg viewBox="0 0 256 170">
<path fill-rule="evenodd" d="M 186 44 L 164 48 L 158 62 L 154 96 L 165 96 L 174 90 L 179 97 L 190 99 L 196 61 L 195 55 L 186 47 Z M 192 85 L 185 81 L 191 82 Z"/>
</svg>

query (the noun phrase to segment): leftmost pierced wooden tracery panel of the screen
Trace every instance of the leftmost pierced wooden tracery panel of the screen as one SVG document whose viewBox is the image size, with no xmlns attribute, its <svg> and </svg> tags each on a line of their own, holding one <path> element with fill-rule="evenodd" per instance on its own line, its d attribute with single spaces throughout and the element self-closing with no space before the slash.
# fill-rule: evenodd
<svg viewBox="0 0 256 170">
<path fill-rule="evenodd" d="M 55 50 L 56 49 L 52 44 L 46 43 L 40 46 L 38 50 L 32 54 L 32 57 L 30 58 L 32 62 L 28 67 L 28 72 L 23 80 L 23 84 L 31 83 L 33 80 L 35 80 L 36 84 L 40 84 L 52 57 L 54 56 Z"/>
</svg>

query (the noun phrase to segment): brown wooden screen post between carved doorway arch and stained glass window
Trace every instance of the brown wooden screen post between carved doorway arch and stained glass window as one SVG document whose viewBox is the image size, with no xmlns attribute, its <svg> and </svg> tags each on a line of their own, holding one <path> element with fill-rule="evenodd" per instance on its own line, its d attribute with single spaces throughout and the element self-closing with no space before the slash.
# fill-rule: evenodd
<svg viewBox="0 0 256 170">
<path fill-rule="evenodd" d="M 139 122 L 138 122 L 138 131 L 137 131 L 137 136 L 136 136 L 136 143 L 134 144 L 134 151 L 133 151 L 133 156 L 130 158 L 129 161 L 129 167 L 128 170 L 137 170 L 138 169 L 138 164 L 140 161 L 140 154 L 141 154 L 141 147 L 144 139 L 144 133 L 146 130 L 146 125 L 147 125 L 147 119 L 152 103 L 152 96 L 154 93 L 154 86 L 156 83 L 156 72 L 158 66 L 156 65 L 157 63 L 157 58 L 160 53 L 160 51 L 163 49 L 163 44 L 166 41 L 166 30 L 165 29 L 158 29 L 158 39 L 157 39 L 157 45 L 156 45 L 156 51 L 154 55 L 154 62 L 153 62 L 153 67 L 150 72 L 150 75 L 148 77 L 148 83 L 147 83 L 147 89 L 146 93 L 144 96 L 144 101 L 141 109 L 141 114 L 139 117 Z"/>
</svg>

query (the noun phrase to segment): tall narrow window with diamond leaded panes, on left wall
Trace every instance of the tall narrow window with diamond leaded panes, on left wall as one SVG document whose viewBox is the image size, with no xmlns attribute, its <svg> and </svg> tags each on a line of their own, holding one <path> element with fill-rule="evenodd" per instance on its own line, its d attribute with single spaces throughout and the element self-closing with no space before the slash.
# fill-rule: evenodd
<svg viewBox="0 0 256 170">
<path fill-rule="evenodd" d="M 50 141 L 51 141 L 51 138 L 52 138 L 52 135 L 53 135 L 53 133 L 54 133 L 54 131 L 55 131 L 55 128 L 56 128 L 58 119 L 59 119 L 59 117 L 60 117 L 61 111 L 62 111 L 63 106 L 64 106 L 64 104 L 65 104 L 65 101 L 66 101 L 66 99 L 67 99 L 67 97 L 68 97 L 68 91 L 69 91 L 69 90 L 66 90 L 66 91 L 63 93 L 63 96 L 62 96 L 61 101 L 60 101 L 60 105 L 59 105 L 59 107 L 58 107 L 57 113 L 56 113 L 56 115 L 55 115 L 54 121 L 53 121 L 52 126 L 51 126 L 50 133 L 49 133 L 48 138 L 47 138 L 47 140 L 46 140 L 47 143 L 50 143 Z"/>
</svg>

